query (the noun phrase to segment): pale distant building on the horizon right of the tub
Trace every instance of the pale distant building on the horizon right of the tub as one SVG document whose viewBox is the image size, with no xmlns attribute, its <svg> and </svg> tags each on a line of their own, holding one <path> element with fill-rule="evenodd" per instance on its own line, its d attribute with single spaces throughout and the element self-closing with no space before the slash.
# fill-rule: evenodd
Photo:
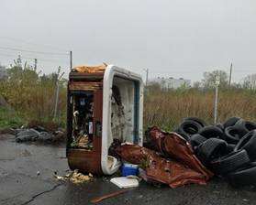
<svg viewBox="0 0 256 205">
<path fill-rule="evenodd" d="M 186 80 L 183 78 L 180 79 L 174 79 L 172 77 L 170 78 L 155 78 L 155 79 L 151 79 L 149 81 L 149 83 L 158 83 L 160 84 L 161 88 L 180 88 L 180 87 L 190 87 L 191 81 L 190 80 Z"/>
</svg>

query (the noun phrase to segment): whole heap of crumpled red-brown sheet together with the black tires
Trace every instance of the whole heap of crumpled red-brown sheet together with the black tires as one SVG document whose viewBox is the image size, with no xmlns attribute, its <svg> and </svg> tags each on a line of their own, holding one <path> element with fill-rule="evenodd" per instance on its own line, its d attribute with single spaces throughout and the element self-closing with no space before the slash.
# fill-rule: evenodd
<svg viewBox="0 0 256 205">
<path fill-rule="evenodd" d="M 256 124 L 239 117 L 215 125 L 188 117 L 175 132 L 153 126 L 143 146 L 122 144 L 116 154 L 139 165 L 139 177 L 171 188 L 206 184 L 213 175 L 234 187 L 256 185 Z"/>
</svg>

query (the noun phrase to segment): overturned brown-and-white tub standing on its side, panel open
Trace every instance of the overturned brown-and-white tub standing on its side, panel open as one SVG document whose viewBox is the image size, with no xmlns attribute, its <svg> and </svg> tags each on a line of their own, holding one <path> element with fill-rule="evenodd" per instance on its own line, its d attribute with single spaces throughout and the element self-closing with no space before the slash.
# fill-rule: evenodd
<svg viewBox="0 0 256 205">
<path fill-rule="evenodd" d="M 143 82 L 117 66 L 77 67 L 70 72 L 67 103 L 69 167 L 111 175 L 120 161 L 114 141 L 142 146 Z"/>
</svg>

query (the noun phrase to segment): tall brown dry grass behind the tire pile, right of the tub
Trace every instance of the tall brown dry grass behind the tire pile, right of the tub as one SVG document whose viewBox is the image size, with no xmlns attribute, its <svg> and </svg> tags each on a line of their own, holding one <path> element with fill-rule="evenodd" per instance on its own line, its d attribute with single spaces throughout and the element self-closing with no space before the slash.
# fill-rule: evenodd
<svg viewBox="0 0 256 205">
<path fill-rule="evenodd" d="M 185 117 L 196 116 L 214 122 L 214 90 L 149 88 L 144 98 L 144 128 L 158 125 L 173 130 Z M 230 116 L 256 121 L 256 92 L 245 89 L 219 91 L 217 121 Z"/>
</svg>

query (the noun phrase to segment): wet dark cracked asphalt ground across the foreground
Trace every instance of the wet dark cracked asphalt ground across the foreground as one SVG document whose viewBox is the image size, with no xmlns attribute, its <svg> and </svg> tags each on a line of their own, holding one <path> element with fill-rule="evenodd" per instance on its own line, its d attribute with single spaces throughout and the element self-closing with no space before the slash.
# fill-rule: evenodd
<svg viewBox="0 0 256 205">
<path fill-rule="evenodd" d="M 17 144 L 13 135 L 0 135 L 0 204 L 57 205 L 90 204 L 94 197 L 119 190 L 111 177 L 93 178 L 83 184 L 53 178 L 67 174 L 69 167 L 64 145 Z M 234 189 L 222 178 L 206 186 L 187 185 L 171 189 L 140 182 L 115 198 L 97 204 L 256 204 L 256 189 Z"/>
</svg>

